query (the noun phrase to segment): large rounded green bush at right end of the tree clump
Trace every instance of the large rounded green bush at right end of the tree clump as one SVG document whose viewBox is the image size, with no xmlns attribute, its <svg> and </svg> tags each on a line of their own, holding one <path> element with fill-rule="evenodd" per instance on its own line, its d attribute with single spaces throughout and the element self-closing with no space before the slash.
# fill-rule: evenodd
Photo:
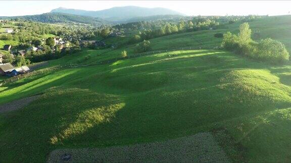
<svg viewBox="0 0 291 163">
<path fill-rule="evenodd" d="M 263 39 L 258 44 L 258 51 L 255 57 L 260 60 L 267 60 L 273 63 L 289 60 L 289 53 L 283 43 L 270 38 Z"/>
</svg>

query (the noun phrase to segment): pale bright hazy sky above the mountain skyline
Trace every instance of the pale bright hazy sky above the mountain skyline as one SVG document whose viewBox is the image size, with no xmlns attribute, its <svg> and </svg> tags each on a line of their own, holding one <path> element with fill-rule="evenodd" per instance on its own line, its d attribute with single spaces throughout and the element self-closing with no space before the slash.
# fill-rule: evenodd
<svg viewBox="0 0 291 163">
<path fill-rule="evenodd" d="M 0 16 L 48 13 L 59 7 L 103 10 L 120 6 L 168 8 L 197 15 L 288 15 L 291 1 L 0 1 Z"/>
</svg>

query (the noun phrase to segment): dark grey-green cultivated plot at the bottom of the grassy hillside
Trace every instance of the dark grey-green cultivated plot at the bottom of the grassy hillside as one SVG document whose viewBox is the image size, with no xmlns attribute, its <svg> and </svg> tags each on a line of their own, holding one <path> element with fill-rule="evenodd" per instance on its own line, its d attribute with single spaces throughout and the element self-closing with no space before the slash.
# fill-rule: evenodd
<svg viewBox="0 0 291 163">
<path fill-rule="evenodd" d="M 229 162 L 209 133 L 164 142 L 106 148 L 57 149 L 48 162 Z"/>
</svg>

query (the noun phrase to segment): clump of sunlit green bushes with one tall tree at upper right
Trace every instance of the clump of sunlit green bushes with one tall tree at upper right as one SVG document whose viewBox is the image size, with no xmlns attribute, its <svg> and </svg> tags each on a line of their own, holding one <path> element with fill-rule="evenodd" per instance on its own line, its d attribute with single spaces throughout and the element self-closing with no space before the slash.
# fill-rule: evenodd
<svg viewBox="0 0 291 163">
<path fill-rule="evenodd" d="M 255 42 L 251 39 L 252 31 L 248 23 L 239 26 L 238 35 L 227 32 L 223 35 L 222 48 L 235 51 L 251 58 L 282 63 L 288 61 L 289 53 L 283 43 L 270 38 Z"/>
</svg>

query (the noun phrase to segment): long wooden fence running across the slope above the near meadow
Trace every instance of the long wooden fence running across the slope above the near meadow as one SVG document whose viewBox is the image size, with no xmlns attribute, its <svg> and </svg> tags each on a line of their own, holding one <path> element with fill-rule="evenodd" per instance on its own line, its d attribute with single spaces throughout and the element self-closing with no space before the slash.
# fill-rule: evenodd
<svg viewBox="0 0 291 163">
<path fill-rule="evenodd" d="M 92 66 L 92 65 L 98 65 L 98 64 L 109 64 L 109 63 L 116 62 L 117 60 L 125 60 L 125 59 L 130 59 L 130 58 L 146 56 L 146 55 L 153 55 L 153 54 L 157 54 L 157 53 L 165 53 L 165 52 L 171 52 L 171 51 L 177 51 L 177 50 L 197 50 L 197 49 L 201 49 L 201 47 L 199 47 L 199 48 L 197 48 L 197 47 L 182 47 L 182 48 L 175 48 L 175 49 L 155 50 L 155 51 L 148 51 L 148 52 L 142 52 L 142 53 L 135 53 L 135 54 L 132 54 L 132 55 L 127 56 L 127 57 L 117 57 L 114 59 L 104 60 L 104 61 L 100 61 L 98 63 L 93 63 L 93 64 L 82 64 L 82 63 L 80 63 L 80 64 L 78 64 L 78 63 L 60 64 L 60 65 L 56 65 L 53 67 L 33 70 L 33 71 L 29 71 L 29 72 L 24 73 L 24 74 L 19 74 L 17 76 L 10 77 L 8 79 L 3 80 L 2 83 L 0 83 L 0 87 L 3 85 L 9 84 L 9 83 L 15 82 L 19 79 L 32 76 L 32 75 L 52 72 L 52 71 L 60 70 L 60 69 L 86 67 L 86 66 Z"/>
</svg>

